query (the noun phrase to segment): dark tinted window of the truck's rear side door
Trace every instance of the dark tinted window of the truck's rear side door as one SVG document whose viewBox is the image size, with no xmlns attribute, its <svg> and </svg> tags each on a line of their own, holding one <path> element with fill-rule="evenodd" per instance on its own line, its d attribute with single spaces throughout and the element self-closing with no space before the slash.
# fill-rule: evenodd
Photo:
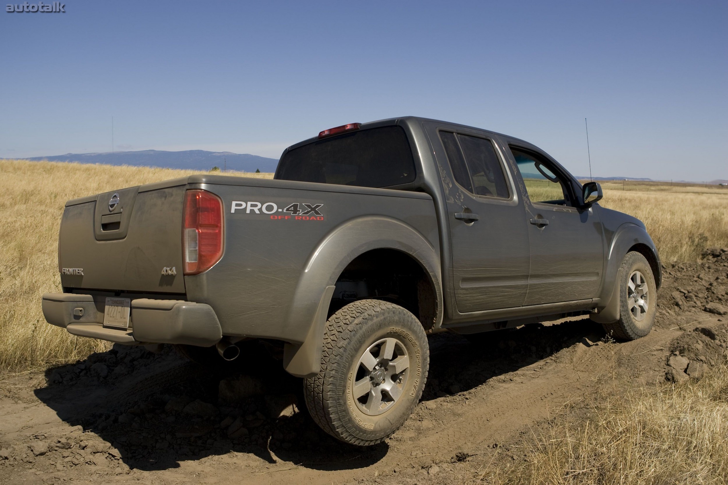
<svg viewBox="0 0 728 485">
<path fill-rule="evenodd" d="M 510 191 L 493 143 L 484 138 L 440 132 L 455 181 L 478 196 L 508 199 Z"/>
</svg>

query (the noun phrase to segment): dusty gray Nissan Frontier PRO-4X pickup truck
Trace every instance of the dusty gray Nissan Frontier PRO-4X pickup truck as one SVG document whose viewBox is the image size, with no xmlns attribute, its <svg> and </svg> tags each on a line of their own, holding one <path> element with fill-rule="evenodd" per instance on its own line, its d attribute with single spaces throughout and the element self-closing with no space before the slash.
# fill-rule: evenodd
<svg viewBox="0 0 728 485">
<path fill-rule="evenodd" d="M 347 124 L 287 148 L 273 180 L 191 175 L 66 203 L 48 323 L 214 363 L 277 349 L 336 438 L 376 444 L 411 414 L 427 334 L 588 315 L 652 328 L 660 260 L 523 140 L 431 119 Z M 250 363 L 255 365 L 255 363 Z"/>
</svg>

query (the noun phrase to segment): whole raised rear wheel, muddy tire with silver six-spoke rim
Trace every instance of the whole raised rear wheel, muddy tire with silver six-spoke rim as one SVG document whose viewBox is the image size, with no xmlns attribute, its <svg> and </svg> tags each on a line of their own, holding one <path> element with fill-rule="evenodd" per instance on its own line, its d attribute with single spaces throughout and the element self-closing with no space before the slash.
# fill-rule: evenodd
<svg viewBox="0 0 728 485">
<path fill-rule="evenodd" d="M 391 359 L 384 358 L 387 352 Z M 365 353 L 370 356 L 364 358 Z M 331 436 L 360 446 L 379 443 L 414 410 L 429 364 L 427 336 L 412 313 L 380 300 L 352 302 L 326 322 L 320 372 L 304 380 L 306 406 L 314 422 Z M 371 393 L 383 392 L 384 402 L 376 410 L 362 403 L 368 402 L 368 394 L 358 403 L 355 397 L 363 393 L 355 385 L 362 389 L 368 380 L 373 382 Z M 381 391 L 385 387 L 392 389 L 391 395 Z"/>
</svg>

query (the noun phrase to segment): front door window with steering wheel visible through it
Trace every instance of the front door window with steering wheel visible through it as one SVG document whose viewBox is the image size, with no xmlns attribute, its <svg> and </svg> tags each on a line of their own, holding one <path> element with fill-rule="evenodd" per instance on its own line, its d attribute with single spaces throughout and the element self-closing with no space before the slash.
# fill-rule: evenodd
<svg viewBox="0 0 728 485">
<path fill-rule="evenodd" d="M 569 192 L 561 179 L 550 169 L 550 163 L 534 153 L 510 147 L 518 171 L 521 172 L 531 202 L 571 205 Z"/>
</svg>

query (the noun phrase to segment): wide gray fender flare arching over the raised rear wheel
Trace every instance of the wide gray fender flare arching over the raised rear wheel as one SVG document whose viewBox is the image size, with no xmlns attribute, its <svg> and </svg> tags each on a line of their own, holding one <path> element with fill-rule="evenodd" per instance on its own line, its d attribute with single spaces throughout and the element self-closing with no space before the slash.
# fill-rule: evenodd
<svg viewBox="0 0 728 485">
<path fill-rule="evenodd" d="M 286 322 L 290 342 L 283 366 L 296 377 L 313 377 L 320 370 L 323 333 L 336 279 L 355 257 L 373 249 L 396 249 L 419 262 L 430 278 L 437 299 L 435 328 L 443 318 L 443 289 L 439 249 L 401 220 L 363 216 L 333 228 L 306 261 Z"/>
</svg>

